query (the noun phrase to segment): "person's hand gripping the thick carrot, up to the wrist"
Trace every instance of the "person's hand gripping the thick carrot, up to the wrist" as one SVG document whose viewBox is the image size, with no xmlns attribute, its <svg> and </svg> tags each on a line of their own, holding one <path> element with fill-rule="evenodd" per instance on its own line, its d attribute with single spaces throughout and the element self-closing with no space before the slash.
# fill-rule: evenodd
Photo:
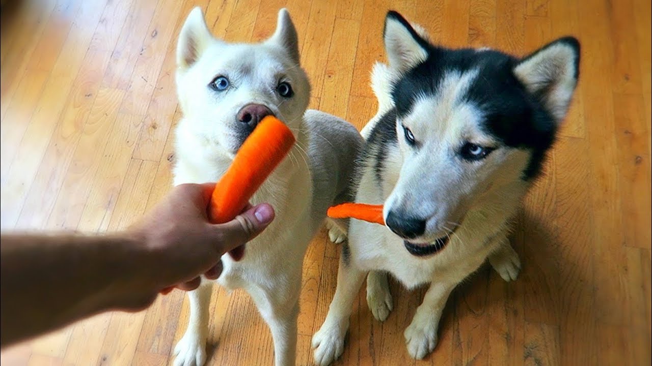
<svg viewBox="0 0 652 366">
<path fill-rule="evenodd" d="M 207 206 L 215 184 L 182 184 L 130 230 L 145 243 L 145 277 L 151 288 L 177 287 L 194 290 L 200 275 L 216 279 L 222 273 L 220 257 L 230 251 L 235 260 L 244 244 L 255 238 L 274 219 L 269 204 L 248 206 L 228 223 L 209 222 Z"/>
</svg>

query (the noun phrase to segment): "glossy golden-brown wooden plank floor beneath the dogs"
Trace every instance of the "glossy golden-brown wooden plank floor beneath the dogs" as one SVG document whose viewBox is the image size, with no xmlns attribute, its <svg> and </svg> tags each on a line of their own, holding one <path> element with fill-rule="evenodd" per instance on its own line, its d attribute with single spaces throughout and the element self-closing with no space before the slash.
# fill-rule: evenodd
<svg viewBox="0 0 652 366">
<path fill-rule="evenodd" d="M 403 330 L 424 290 L 393 283 L 373 320 L 364 292 L 337 365 L 649 365 L 649 0 L 8 0 L 1 20 L 1 227 L 122 229 L 170 190 L 179 120 L 175 42 L 190 8 L 226 40 L 271 35 L 288 7 L 312 80 L 311 106 L 361 128 L 393 8 L 448 46 L 518 55 L 556 36 L 582 42 L 580 86 L 546 175 L 512 243 L 505 283 L 483 268 L 451 296 L 435 352 L 408 358 Z M 17 3 L 17 4 L 16 4 Z M 299 365 L 334 293 L 338 249 L 321 231 L 304 265 Z M 162 269 L 163 270 L 163 269 Z M 56 274 L 44 274 L 56 275 Z M 165 365 L 186 327 L 174 291 L 3 352 L 2 365 Z M 271 365 L 269 330 L 246 294 L 215 289 L 210 365 Z"/>
</svg>

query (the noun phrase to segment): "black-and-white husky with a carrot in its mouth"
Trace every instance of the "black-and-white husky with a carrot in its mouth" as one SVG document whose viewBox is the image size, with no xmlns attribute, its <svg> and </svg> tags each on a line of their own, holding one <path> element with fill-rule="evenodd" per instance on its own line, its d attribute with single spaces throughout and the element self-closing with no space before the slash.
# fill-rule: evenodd
<svg viewBox="0 0 652 366">
<path fill-rule="evenodd" d="M 484 260 L 505 281 L 516 279 L 509 223 L 577 83 L 580 48 L 571 37 L 517 59 L 434 46 L 420 27 L 389 12 L 384 42 L 389 65 L 374 68 L 379 112 L 363 130 L 355 201 L 384 204 L 387 227 L 351 220 L 335 296 L 312 339 L 318 365 L 342 353 L 365 275 L 380 321 L 393 307 L 388 273 L 409 289 L 430 284 L 404 332 L 417 359 L 437 344 L 451 290 Z"/>
</svg>

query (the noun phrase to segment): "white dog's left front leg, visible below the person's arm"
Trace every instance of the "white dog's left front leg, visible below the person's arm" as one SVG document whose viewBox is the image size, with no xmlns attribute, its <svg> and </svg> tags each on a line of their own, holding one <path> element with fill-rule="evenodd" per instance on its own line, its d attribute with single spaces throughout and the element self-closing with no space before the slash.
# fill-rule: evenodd
<svg viewBox="0 0 652 366">
<path fill-rule="evenodd" d="M 186 333 L 174 348 L 174 366 L 201 366 L 206 361 L 209 305 L 213 281 L 202 279 L 200 287 L 188 292 L 190 319 Z"/>
</svg>

